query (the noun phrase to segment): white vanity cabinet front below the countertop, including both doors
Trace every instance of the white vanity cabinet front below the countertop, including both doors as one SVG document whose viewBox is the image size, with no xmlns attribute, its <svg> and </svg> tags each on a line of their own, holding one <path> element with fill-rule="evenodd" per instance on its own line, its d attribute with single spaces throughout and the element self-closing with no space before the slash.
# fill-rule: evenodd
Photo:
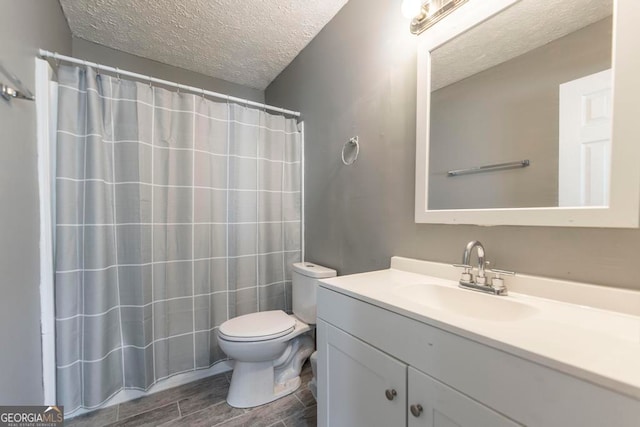
<svg viewBox="0 0 640 427">
<path fill-rule="evenodd" d="M 638 400 L 444 326 L 321 286 L 318 424 L 640 425 Z"/>
</svg>

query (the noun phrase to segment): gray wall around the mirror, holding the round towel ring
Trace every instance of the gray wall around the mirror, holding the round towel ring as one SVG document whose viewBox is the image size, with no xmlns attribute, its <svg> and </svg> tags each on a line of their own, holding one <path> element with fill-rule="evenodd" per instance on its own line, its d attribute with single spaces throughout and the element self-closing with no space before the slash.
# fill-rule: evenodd
<svg viewBox="0 0 640 427">
<path fill-rule="evenodd" d="M 305 120 L 307 259 L 340 274 L 386 268 L 392 255 L 453 263 L 479 239 L 496 267 L 640 289 L 640 230 L 413 222 L 415 38 L 399 9 L 350 0 L 266 90 Z M 356 134 L 360 157 L 343 166 Z"/>
</svg>

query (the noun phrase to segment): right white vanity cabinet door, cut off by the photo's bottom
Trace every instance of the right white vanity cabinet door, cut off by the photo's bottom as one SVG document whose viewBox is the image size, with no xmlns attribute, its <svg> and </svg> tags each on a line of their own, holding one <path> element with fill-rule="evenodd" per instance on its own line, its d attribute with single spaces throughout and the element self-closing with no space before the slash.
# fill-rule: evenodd
<svg viewBox="0 0 640 427">
<path fill-rule="evenodd" d="M 422 407 L 418 411 L 417 405 Z M 519 424 L 409 368 L 409 427 L 515 427 Z"/>
</svg>

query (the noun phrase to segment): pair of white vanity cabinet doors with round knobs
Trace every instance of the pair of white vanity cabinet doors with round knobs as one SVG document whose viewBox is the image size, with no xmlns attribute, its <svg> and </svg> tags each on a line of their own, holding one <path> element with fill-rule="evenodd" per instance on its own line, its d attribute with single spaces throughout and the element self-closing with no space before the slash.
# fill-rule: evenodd
<svg viewBox="0 0 640 427">
<path fill-rule="evenodd" d="M 320 372 L 326 372 L 321 426 L 517 426 L 335 326 L 318 321 L 317 327 Z"/>
</svg>

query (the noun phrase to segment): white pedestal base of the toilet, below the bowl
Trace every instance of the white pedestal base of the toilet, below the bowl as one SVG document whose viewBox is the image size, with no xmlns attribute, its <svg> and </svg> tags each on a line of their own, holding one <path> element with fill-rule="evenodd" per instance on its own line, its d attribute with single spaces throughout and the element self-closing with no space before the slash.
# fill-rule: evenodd
<svg viewBox="0 0 640 427">
<path fill-rule="evenodd" d="M 302 335 L 292 340 L 282 357 L 277 361 L 236 361 L 227 394 L 227 403 L 234 408 L 252 408 L 273 402 L 293 393 L 302 383 L 302 364 L 313 352 L 313 340 Z"/>
</svg>

